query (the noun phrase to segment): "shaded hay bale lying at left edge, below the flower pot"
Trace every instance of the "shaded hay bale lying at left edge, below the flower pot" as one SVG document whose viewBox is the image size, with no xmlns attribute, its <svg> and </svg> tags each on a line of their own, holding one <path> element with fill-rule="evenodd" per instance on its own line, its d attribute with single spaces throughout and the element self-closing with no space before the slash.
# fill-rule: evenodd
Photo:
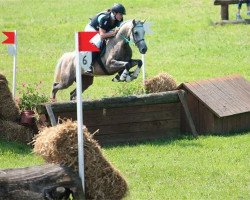
<svg viewBox="0 0 250 200">
<path fill-rule="evenodd" d="M 29 143 L 34 136 L 34 130 L 15 122 L 0 119 L 0 138 L 7 141 Z"/>
</svg>

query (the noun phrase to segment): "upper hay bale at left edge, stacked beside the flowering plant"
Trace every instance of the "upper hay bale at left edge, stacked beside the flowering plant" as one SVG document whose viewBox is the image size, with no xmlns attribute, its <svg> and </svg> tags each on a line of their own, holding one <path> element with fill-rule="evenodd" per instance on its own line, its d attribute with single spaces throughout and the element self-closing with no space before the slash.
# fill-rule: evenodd
<svg viewBox="0 0 250 200">
<path fill-rule="evenodd" d="M 17 121 L 20 116 L 20 110 L 13 100 L 12 93 L 8 87 L 6 77 L 0 73 L 0 118 Z"/>
</svg>

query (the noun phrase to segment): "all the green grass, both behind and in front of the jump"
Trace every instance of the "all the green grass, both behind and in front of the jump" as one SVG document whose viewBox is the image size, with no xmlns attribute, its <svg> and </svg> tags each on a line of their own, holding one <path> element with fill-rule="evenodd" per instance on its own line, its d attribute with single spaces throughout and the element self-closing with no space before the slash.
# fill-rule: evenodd
<svg viewBox="0 0 250 200">
<path fill-rule="evenodd" d="M 124 0 L 127 19 L 147 19 L 147 77 L 171 74 L 178 83 L 239 73 L 250 80 L 250 26 L 214 26 L 220 7 L 207 0 Z M 50 95 L 58 58 L 74 50 L 74 32 L 88 18 L 113 4 L 111 0 L 0 0 L 0 31 L 18 31 L 17 84 L 43 81 Z M 230 6 L 230 18 L 237 7 Z M 246 7 L 243 6 L 243 17 Z M 0 41 L 5 36 L 0 34 Z M 135 49 L 135 58 L 140 58 Z M 0 45 L 0 73 L 12 87 L 12 57 Z M 134 83 L 113 83 L 99 77 L 84 99 L 124 95 Z M 71 87 L 73 89 L 73 87 Z M 58 93 L 69 98 L 70 89 Z M 136 146 L 105 148 L 104 153 L 129 182 L 127 199 L 249 199 L 249 132 L 228 137 L 158 141 Z M 0 168 L 41 164 L 29 147 L 0 142 Z"/>
</svg>

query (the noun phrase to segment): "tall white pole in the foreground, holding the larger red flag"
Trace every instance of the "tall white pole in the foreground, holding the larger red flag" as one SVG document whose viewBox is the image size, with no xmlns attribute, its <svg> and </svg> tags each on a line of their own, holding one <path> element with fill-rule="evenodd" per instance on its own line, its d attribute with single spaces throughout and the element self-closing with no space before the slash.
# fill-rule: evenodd
<svg viewBox="0 0 250 200">
<path fill-rule="evenodd" d="M 78 133 L 78 167 L 79 176 L 82 180 L 82 188 L 85 194 L 85 178 L 84 178 L 84 136 L 83 136 L 83 114 L 82 114 L 82 75 L 79 64 L 79 42 L 78 32 L 75 33 L 76 48 L 76 98 L 77 98 L 77 133 Z"/>
</svg>

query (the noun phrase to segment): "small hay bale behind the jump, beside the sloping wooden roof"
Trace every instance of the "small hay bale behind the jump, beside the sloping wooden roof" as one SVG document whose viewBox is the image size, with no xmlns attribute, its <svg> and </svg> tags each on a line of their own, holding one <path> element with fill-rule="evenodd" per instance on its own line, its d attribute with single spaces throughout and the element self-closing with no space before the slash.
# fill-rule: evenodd
<svg viewBox="0 0 250 200">
<path fill-rule="evenodd" d="M 151 79 L 145 80 L 144 87 L 146 93 L 157 93 L 176 90 L 177 83 L 171 75 L 161 73 Z"/>
</svg>

